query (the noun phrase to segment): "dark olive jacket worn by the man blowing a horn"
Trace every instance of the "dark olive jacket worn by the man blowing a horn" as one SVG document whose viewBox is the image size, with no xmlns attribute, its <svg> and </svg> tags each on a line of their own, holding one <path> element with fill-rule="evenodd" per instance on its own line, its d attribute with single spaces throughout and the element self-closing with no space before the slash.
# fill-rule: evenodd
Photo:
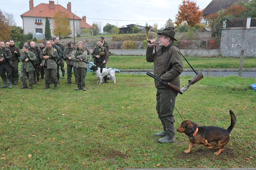
<svg viewBox="0 0 256 170">
<path fill-rule="evenodd" d="M 165 58 L 167 55 L 167 69 L 165 67 Z M 161 50 L 157 50 L 156 54 L 153 53 L 153 47 L 148 46 L 146 52 L 146 59 L 148 62 L 154 62 L 154 74 L 168 81 L 169 83 L 180 88 L 180 73 L 183 71 L 183 62 L 181 59 L 180 50 L 169 45 L 163 46 Z M 161 82 L 155 80 L 156 88 L 167 88 Z"/>
</svg>

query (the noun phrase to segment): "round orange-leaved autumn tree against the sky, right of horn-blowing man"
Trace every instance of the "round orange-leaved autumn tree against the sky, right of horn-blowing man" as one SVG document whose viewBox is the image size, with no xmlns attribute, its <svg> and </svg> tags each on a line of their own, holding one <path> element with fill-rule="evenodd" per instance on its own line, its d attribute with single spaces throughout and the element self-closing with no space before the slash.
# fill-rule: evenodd
<svg viewBox="0 0 256 170">
<path fill-rule="evenodd" d="M 176 14 L 175 24 L 179 25 L 182 21 L 187 21 L 190 27 L 194 27 L 200 22 L 203 16 L 203 10 L 196 6 L 196 2 L 191 0 L 183 0 L 179 5 L 178 14 Z"/>
</svg>

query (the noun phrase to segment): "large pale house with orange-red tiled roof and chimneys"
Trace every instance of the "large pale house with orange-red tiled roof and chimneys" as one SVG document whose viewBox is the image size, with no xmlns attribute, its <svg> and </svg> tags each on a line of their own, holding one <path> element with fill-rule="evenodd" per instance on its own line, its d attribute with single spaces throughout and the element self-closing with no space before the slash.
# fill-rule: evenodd
<svg viewBox="0 0 256 170">
<path fill-rule="evenodd" d="M 43 33 L 45 31 L 45 19 L 48 17 L 48 20 L 50 22 L 50 29 L 51 29 L 51 35 L 52 37 L 56 37 L 53 34 L 53 17 L 55 13 L 62 11 L 63 13 L 67 13 L 69 15 L 69 24 L 71 29 L 70 37 L 74 37 L 74 31 L 75 36 L 80 34 L 81 32 L 81 26 L 84 27 L 92 27 L 89 24 L 86 23 L 86 17 L 85 20 L 81 19 L 80 17 L 76 16 L 74 13 L 71 12 L 71 2 L 68 2 L 67 9 L 59 4 L 54 4 L 54 1 L 49 1 L 49 4 L 38 4 L 34 7 L 33 0 L 29 1 L 29 11 L 23 13 L 20 15 L 22 19 L 23 24 L 23 34 L 28 33 Z M 83 18 L 84 18 L 83 17 Z M 74 30 L 74 25 L 75 30 Z"/>
</svg>

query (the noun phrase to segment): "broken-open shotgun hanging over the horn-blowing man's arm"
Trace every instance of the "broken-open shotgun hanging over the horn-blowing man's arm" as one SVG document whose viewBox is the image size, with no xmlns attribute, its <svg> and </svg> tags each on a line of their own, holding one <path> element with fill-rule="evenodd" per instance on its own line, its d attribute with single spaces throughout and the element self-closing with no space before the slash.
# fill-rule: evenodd
<svg viewBox="0 0 256 170">
<path fill-rule="evenodd" d="M 184 93 L 184 91 L 186 91 L 189 88 L 189 86 L 191 86 L 192 84 L 195 84 L 197 81 L 201 80 L 204 77 L 202 72 L 199 71 L 192 80 L 188 80 L 188 85 L 186 85 L 185 87 L 180 89 L 179 87 L 177 87 L 177 86 L 175 86 L 175 85 L 173 85 L 171 83 L 168 83 L 167 81 L 164 81 L 164 80 L 160 79 L 159 77 L 157 77 L 156 75 L 154 75 L 154 74 L 152 74 L 152 73 L 150 73 L 148 71 L 147 71 L 146 74 L 148 76 L 153 77 L 154 79 L 160 81 L 166 87 L 168 87 L 168 88 L 170 88 L 170 89 L 180 93 L 181 95 Z"/>
</svg>

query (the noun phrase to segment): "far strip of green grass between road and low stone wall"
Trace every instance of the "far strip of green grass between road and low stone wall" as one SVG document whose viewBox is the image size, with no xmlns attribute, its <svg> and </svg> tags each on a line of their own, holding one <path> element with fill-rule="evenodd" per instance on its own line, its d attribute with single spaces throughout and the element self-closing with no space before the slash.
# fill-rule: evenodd
<svg viewBox="0 0 256 170">
<path fill-rule="evenodd" d="M 192 58 L 186 57 L 193 68 L 239 68 L 240 58 Z M 182 58 L 184 68 L 190 68 Z M 146 61 L 145 56 L 110 56 L 108 67 L 124 69 L 153 69 L 153 63 Z M 244 58 L 244 68 L 256 68 L 256 58 Z"/>
</svg>

